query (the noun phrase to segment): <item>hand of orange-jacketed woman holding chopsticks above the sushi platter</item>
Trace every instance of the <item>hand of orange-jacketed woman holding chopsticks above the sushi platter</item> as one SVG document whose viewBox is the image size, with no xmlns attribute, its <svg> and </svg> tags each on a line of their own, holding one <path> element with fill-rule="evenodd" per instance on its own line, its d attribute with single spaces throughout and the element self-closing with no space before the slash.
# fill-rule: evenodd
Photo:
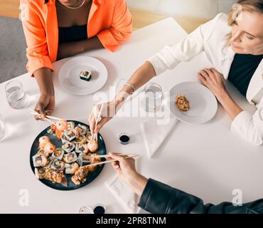
<svg viewBox="0 0 263 228">
<path fill-rule="evenodd" d="M 36 120 L 44 120 L 45 115 L 51 115 L 55 108 L 55 96 L 48 94 L 41 94 L 41 97 L 36 104 L 35 111 L 40 113 L 40 115 L 35 115 Z"/>
</svg>

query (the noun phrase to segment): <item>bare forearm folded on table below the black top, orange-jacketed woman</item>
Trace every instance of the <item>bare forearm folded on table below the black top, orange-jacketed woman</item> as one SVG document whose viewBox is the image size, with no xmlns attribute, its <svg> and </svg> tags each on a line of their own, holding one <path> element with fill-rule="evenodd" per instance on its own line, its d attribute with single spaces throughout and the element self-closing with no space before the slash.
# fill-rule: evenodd
<svg viewBox="0 0 263 228">
<path fill-rule="evenodd" d="M 98 48 L 104 47 L 97 36 L 88 38 L 83 41 L 60 43 L 60 45 L 58 46 L 58 59 L 68 58 L 70 56 L 75 56 L 78 53 L 91 51 Z"/>
</svg>

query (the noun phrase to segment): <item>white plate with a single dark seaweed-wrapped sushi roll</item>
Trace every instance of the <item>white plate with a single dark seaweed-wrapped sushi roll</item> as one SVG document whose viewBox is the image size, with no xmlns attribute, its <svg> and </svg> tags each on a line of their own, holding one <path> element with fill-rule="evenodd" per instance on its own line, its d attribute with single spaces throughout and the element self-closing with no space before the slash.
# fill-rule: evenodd
<svg viewBox="0 0 263 228">
<path fill-rule="evenodd" d="M 82 70 L 91 71 L 90 81 L 80 79 Z M 75 95 L 87 95 L 97 92 L 106 83 L 108 78 L 107 68 L 104 64 L 88 56 L 79 56 L 66 62 L 58 73 L 58 81 L 69 93 Z"/>
</svg>

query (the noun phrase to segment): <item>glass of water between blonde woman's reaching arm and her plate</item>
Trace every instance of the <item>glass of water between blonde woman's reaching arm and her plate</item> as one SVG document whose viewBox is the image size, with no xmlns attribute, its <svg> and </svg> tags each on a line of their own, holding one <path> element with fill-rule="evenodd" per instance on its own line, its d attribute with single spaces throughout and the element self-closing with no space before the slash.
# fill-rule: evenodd
<svg viewBox="0 0 263 228">
<path fill-rule="evenodd" d="M 141 100 L 141 108 L 148 113 L 155 113 L 161 108 L 163 102 L 163 90 L 157 83 L 148 83 L 144 88 L 144 98 Z"/>
</svg>

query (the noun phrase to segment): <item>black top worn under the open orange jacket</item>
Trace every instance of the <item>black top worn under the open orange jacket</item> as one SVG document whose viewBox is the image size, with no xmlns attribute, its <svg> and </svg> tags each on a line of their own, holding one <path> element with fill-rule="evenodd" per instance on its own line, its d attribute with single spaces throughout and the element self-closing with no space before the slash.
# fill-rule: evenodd
<svg viewBox="0 0 263 228">
<path fill-rule="evenodd" d="M 58 43 L 87 39 L 87 24 L 82 26 L 58 27 Z"/>
</svg>

